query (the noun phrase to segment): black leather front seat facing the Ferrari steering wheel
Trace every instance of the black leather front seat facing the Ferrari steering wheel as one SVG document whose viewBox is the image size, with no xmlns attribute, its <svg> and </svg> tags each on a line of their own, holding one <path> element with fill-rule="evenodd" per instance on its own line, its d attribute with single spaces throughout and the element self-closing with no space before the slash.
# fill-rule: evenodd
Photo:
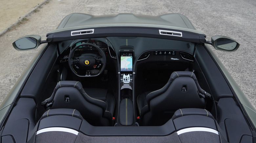
<svg viewBox="0 0 256 143">
<path fill-rule="evenodd" d="M 106 89 L 89 90 L 85 92 L 82 84 L 77 81 L 60 81 L 57 83 L 50 98 L 42 105 L 56 108 L 71 108 L 78 110 L 82 117 L 94 126 L 109 126 L 112 122 L 115 108 L 115 98 Z"/>
</svg>

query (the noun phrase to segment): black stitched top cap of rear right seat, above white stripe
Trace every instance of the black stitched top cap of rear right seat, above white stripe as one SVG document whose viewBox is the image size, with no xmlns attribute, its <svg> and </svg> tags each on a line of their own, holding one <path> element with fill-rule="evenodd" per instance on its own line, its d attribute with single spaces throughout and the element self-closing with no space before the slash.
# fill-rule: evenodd
<svg viewBox="0 0 256 143">
<path fill-rule="evenodd" d="M 179 118 L 181 116 L 186 116 L 186 115 L 202 115 L 202 116 L 207 116 L 207 117 L 214 119 L 214 117 L 212 116 L 212 114 L 209 111 L 207 111 L 206 109 L 199 109 L 199 108 L 179 109 L 174 113 L 172 119 L 174 120 L 176 118 Z"/>
</svg>

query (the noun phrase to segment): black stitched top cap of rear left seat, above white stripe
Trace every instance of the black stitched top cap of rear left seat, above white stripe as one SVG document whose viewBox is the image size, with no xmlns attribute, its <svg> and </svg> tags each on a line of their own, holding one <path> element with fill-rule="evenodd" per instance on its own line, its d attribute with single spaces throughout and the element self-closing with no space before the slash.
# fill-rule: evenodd
<svg viewBox="0 0 256 143">
<path fill-rule="evenodd" d="M 73 116 L 79 119 L 83 119 L 82 115 L 78 110 L 75 109 L 64 109 L 64 108 L 59 108 L 59 109 L 49 109 L 46 111 L 41 119 L 44 119 L 46 117 L 54 116 L 54 115 L 67 115 L 67 116 Z"/>
</svg>

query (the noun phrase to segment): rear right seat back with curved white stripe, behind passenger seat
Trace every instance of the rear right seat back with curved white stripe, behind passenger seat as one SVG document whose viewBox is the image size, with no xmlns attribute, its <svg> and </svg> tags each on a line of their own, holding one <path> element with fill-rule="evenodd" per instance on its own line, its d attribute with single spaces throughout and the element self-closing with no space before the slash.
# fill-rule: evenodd
<svg viewBox="0 0 256 143">
<path fill-rule="evenodd" d="M 218 131 L 218 124 L 206 109 L 178 109 L 173 117 L 176 133 L 180 142 L 224 143 L 225 139 Z"/>
</svg>

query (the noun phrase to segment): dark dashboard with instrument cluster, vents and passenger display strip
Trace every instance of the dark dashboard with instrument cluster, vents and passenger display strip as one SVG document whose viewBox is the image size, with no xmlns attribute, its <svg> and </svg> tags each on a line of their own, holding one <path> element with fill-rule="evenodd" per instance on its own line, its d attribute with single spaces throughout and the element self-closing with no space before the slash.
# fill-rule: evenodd
<svg viewBox="0 0 256 143">
<path fill-rule="evenodd" d="M 111 61 L 108 63 L 114 64 L 115 62 L 110 59 L 118 59 L 118 71 L 121 72 L 132 72 L 134 69 L 136 70 L 135 67 L 139 68 L 139 66 L 144 67 L 147 65 L 142 63 L 148 63 L 149 67 L 160 69 L 162 68 L 160 65 L 168 65 L 168 62 L 193 62 L 192 54 L 195 46 L 190 42 L 142 37 L 130 39 L 107 37 L 97 39 L 77 39 L 65 42 L 65 46 L 63 46 L 65 50 L 63 50 L 59 59 L 60 63 L 68 61 L 70 51 L 74 49 L 75 46 L 82 43 L 91 43 L 103 50 L 108 61 Z M 60 43 L 60 46 L 61 44 L 63 43 Z M 85 53 L 99 55 L 94 46 L 82 45 L 75 50 L 73 56 L 79 57 Z M 114 65 L 117 66 L 116 64 Z M 135 66 L 135 64 L 137 66 Z"/>
</svg>

